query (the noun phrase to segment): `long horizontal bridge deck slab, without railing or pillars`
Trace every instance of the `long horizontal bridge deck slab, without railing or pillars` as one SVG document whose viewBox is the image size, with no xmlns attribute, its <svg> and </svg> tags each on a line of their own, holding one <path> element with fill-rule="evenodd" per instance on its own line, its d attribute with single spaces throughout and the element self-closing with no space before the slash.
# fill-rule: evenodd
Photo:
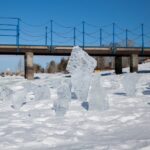
<svg viewBox="0 0 150 150">
<path fill-rule="evenodd" d="M 85 47 L 84 50 L 91 56 L 150 56 L 150 48 L 141 47 Z M 142 53 L 143 50 L 143 53 Z M 30 45 L 0 45 L 0 54 L 24 55 L 26 52 L 32 52 L 34 55 L 56 55 L 69 56 L 72 46 L 30 46 Z"/>
</svg>

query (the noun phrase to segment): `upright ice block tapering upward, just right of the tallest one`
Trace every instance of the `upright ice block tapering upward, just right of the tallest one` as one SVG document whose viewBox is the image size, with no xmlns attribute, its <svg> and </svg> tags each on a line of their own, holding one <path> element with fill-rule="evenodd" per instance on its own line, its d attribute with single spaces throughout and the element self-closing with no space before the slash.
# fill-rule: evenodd
<svg viewBox="0 0 150 150">
<path fill-rule="evenodd" d="M 100 74 L 98 73 L 93 76 L 88 100 L 90 110 L 102 111 L 108 109 L 106 90 L 101 86 Z"/>
</svg>

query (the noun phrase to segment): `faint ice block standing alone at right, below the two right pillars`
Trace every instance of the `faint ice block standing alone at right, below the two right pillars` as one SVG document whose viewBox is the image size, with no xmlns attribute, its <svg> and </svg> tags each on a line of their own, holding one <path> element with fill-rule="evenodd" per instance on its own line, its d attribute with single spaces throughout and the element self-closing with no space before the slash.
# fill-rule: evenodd
<svg viewBox="0 0 150 150">
<path fill-rule="evenodd" d="M 123 88 L 128 96 L 135 96 L 136 94 L 136 84 L 138 82 L 139 76 L 137 73 L 125 74 L 122 84 Z"/>
</svg>

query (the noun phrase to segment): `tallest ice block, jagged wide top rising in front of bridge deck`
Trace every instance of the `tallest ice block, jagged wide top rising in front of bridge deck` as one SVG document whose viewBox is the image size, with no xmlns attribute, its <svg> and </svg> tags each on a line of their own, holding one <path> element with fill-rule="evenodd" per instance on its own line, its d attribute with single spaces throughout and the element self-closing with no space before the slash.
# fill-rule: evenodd
<svg viewBox="0 0 150 150">
<path fill-rule="evenodd" d="M 87 101 L 91 75 L 96 65 L 96 60 L 80 47 L 73 48 L 67 70 L 71 73 L 72 90 L 82 102 Z"/>
</svg>

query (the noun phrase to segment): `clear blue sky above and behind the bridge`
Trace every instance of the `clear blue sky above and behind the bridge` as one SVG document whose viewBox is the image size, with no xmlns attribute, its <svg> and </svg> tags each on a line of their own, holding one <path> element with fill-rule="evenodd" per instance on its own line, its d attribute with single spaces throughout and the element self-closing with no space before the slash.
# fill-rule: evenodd
<svg viewBox="0 0 150 150">
<path fill-rule="evenodd" d="M 31 32 L 32 35 L 44 34 L 45 25 L 49 27 L 50 19 L 65 26 L 74 27 L 78 25 L 80 31 L 82 31 L 82 24 L 80 23 L 83 20 L 97 26 L 110 25 L 108 31 L 112 29 L 111 24 L 113 22 L 123 29 L 136 29 L 141 23 L 144 23 L 145 31 L 148 33 L 148 31 L 150 32 L 149 6 L 149 0 L 0 0 L 0 15 L 1 17 L 19 17 L 26 24 L 43 24 L 41 27 L 34 28 L 21 23 L 21 30 L 29 31 L 28 33 Z M 59 26 L 55 24 L 54 28 L 58 32 L 68 31 L 68 29 L 61 27 L 59 29 Z M 96 31 L 95 28 L 88 26 L 85 28 L 90 33 Z M 70 34 L 68 36 L 72 36 L 73 33 Z M 25 36 L 23 32 L 20 36 L 23 39 L 34 40 L 33 37 Z M 20 39 L 21 44 L 33 43 L 33 41 L 27 42 L 23 39 Z M 58 40 L 58 37 L 54 37 L 54 39 Z M 86 40 L 88 41 L 88 38 Z M 15 43 L 13 38 L 0 37 L 0 43 L 7 43 L 8 41 Z M 44 38 L 33 44 L 44 44 Z M 19 59 L 19 57 L 0 56 L 0 63 L 4 62 L 0 71 L 8 67 L 15 70 Z M 51 57 L 36 57 L 34 59 L 35 62 L 41 62 L 43 66 L 50 60 Z"/>
</svg>

